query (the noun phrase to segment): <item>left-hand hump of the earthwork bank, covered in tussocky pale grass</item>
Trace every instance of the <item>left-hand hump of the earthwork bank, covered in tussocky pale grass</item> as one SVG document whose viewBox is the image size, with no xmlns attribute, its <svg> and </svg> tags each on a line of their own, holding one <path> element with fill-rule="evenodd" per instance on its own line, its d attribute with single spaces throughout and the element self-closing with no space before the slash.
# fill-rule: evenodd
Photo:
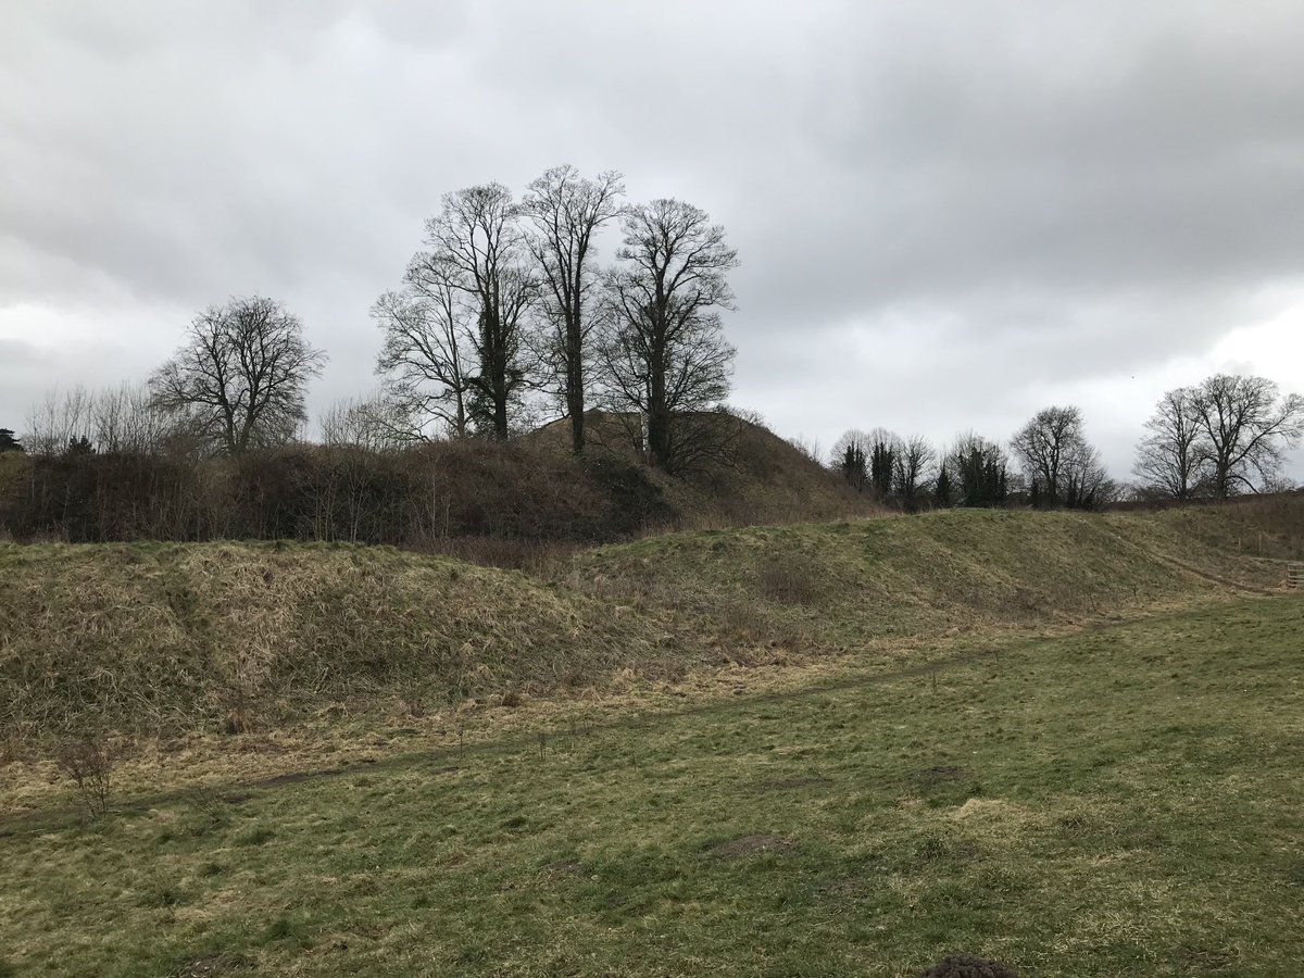
<svg viewBox="0 0 1304 978">
<path fill-rule="evenodd" d="M 0 548 L 0 733 L 240 729 L 377 695 L 411 709 L 655 662 L 645 615 L 386 548 Z"/>
</svg>

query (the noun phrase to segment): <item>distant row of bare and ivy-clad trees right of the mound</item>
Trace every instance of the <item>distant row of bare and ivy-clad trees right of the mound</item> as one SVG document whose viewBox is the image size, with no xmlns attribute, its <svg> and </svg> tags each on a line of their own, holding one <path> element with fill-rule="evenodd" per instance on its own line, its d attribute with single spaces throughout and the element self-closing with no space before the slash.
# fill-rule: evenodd
<svg viewBox="0 0 1304 978">
<path fill-rule="evenodd" d="M 1048 407 L 1009 439 L 1008 452 L 971 432 L 943 449 L 883 428 L 848 430 L 829 467 L 859 492 L 913 512 L 926 507 L 1029 505 L 1093 510 L 1141 499 L 1226 499 L 1288 489 L 1286 452 L 1304 438 L 1304 398 L 1262 377 L 1217 374 L 1161 398 L 1133 472 L 1110 479 L 1077 407 Z"/>
</svg>

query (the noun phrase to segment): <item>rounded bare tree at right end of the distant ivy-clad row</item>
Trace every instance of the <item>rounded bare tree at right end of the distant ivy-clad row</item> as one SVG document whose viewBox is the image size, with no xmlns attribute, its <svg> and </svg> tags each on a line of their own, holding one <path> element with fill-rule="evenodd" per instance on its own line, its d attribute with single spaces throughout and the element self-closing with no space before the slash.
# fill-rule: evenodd
<svg viewBox="0 0 1304 978">
<path fill-rule="evenodd" d="M 1102 503 L 1108 475 L 1101 454 L 1082 432 L 1076 407 L 1038 411 L 1011 439 L 1037 506 L 1094 509 Z"/>
</svg>

